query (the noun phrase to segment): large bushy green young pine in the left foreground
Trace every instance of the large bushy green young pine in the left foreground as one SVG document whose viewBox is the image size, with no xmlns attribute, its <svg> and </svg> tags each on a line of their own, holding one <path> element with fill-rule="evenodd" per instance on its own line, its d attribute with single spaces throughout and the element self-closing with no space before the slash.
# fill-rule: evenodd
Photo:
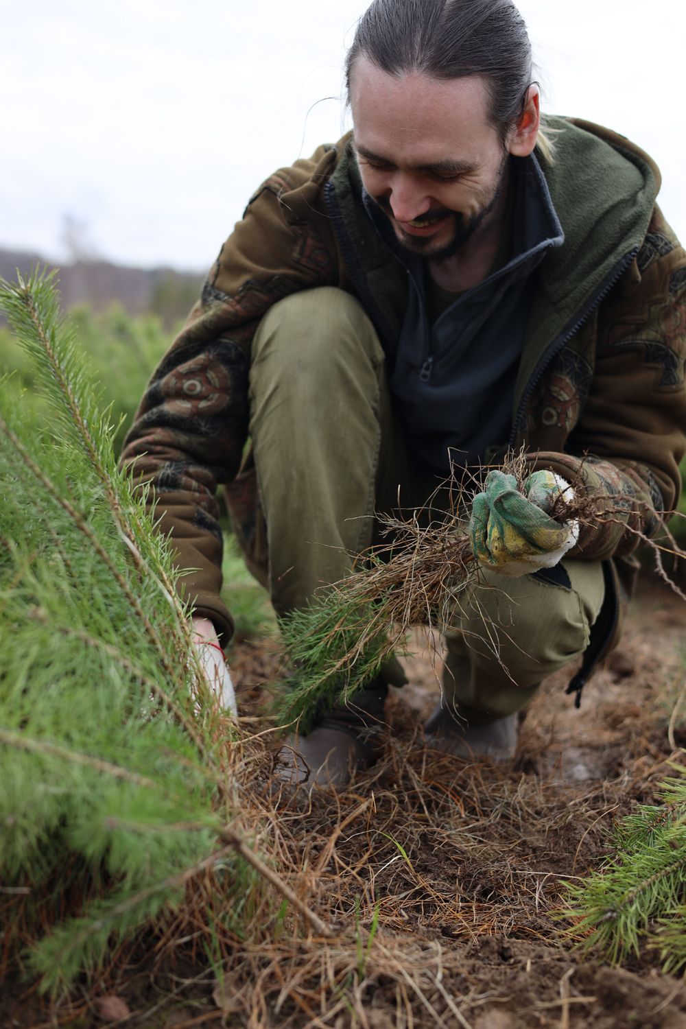
<svg viewBox="0 0 686 1029">
<path fill-rule="evenodd" d="M 38 422 L 0 382 L 0 877 L 28 891 L 3 932 L 57 989 L 193 877 L 223 867 L 230 881 L 230 729 L 51 277 L 0 283 L 0 307 L 53 413 Z"/>
</svg>

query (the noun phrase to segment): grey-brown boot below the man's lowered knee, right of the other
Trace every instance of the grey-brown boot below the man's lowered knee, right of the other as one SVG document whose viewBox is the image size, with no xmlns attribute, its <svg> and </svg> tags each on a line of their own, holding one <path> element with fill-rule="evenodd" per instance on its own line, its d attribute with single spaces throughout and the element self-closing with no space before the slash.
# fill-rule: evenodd
<svg viewBox="0 0 686 1029">
<path fill-rule="evenodd" d="M 482 725 L 470 725 L 469 720 L 461 717 L 458 711 L 454 713 L 439 702 L 431 712 L 424 732 L 427 743 L 436 750 L 466 760 L 491 757 L 500 762 L 514 757 L 517 729 L 516 713 Z"/>
</svg>

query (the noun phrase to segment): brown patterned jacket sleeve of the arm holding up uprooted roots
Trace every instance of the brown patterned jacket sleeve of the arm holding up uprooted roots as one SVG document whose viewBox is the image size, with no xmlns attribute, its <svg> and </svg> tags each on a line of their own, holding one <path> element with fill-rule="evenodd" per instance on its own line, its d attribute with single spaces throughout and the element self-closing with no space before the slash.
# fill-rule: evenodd
<svg viewBox="0 0 686 1029">
<path fill-rule="evenodd" d="M 638 263 L 599 312 L 595 365 L 566 453 L 532 455 L 595 498 L 572 556 L 623 557 L 675 506 L 685 364 L 686 254 L 656 211 Z"/>
</svg>

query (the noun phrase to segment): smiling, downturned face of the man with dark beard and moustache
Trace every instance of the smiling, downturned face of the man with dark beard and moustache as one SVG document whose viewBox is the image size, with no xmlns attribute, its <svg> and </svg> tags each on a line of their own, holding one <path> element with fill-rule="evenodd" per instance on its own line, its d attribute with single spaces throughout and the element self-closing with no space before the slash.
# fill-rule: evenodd
<svg viewBox="0 0 686 1029">
<path fill-rule="evenodd" d="M 508 151 L 483 78 L 388 75 L 355 62 L 351 107 L 362 182 L 406 250 L 445 259 L 488 222 Z"/>
</svg>

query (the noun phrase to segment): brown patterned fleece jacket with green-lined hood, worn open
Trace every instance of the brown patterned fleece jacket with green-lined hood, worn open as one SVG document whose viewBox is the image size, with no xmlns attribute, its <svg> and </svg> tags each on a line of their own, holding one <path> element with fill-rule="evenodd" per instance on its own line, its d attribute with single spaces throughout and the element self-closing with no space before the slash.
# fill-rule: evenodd
<svg viewBox="0 0 686 1029">
<path fill-rule="evenodd" d="M 686 447 L 686 254 L 655 206 L 659 172 L 623 137 L 551 118 L 554 162 L 537 151 L 565 243 L 537 271 L 512 432 L 532 464 L 581 483 L 610 508 L 578 553 L 622 570 L 680 490 Z M 255 496 L 240 474 L 251 340 L 276 300 L 332 285 L 358 296 L 392 347 L 407 301 L 404 268 L 361 202 L 350 137 L 277 172 L 223 245 L 201 300 L 155 370 L 122 460 L 151 482 L 194 608 L 230 635 L 220 600 L 224 484 L 249 539 Z M 334 345 L 332 341 L 332 346 Z M 494 452 L 496 453 L 496 451 Z M 610 520 L 608 520 L 610 519 Z M 628 586 L 626 561 L 620 580 Z"/>
</svg>

